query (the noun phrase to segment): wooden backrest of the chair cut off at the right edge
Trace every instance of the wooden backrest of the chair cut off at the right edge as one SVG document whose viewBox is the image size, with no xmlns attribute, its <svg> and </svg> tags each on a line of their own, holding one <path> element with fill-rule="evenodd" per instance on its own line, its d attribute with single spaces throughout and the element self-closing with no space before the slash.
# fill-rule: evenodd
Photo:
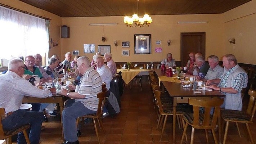
<svg viewBox="0 0 256 144">
<path fill-rule="evenodd" d="M 253 121 L 253 117 L 255 115 L 255 111 L 256 111 L 256 91 L 255 90 L 249 90 L 248 91 L 248 95 L 250 95 L 250 100 L 248 103 L 248 107 L 247 107 L 247 111 L 246 113 L 251 115 L 251 120 Z"/>
</svg>

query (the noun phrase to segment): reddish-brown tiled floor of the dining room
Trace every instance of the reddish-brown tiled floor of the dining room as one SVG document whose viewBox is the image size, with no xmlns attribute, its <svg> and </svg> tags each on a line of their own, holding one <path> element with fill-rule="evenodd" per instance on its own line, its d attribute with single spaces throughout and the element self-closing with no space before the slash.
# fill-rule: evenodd
<svg viewBox="0 0 256 144">
<path fill-rule="evenodd" d="M 128 87 L 121 97 L 121 112 L 111 118 L 105 117 L 103 125 L 106 134 L 99 131 L 101 144 L 172 144 L 172 118 L 169 117 L 166 129 L 160 141 L 161 129 L 157 130 L 156 112 L 154 110 L 153 94 L 148 83 L 143 83 L 143 91 L 140 87 Z M 56 118 L 56 117 L 55 117 Z M 45 129 L 41 132 L 40 144 L 60 144 L 62 142 L 60 122 L 54 117 L 49 122 L 44 122 Z M 247 140 L 245 126 L 239 125 L 242 138 L 239 137 L 235 124 L 229 126 L 227 144 L 250 144 Z M 256 122 L 250 125 L 253 137 L 256 136 Z M 191 128 L 187 134 L 190 140 Z M 176 127 L 176 144 L 180 144 L 182 130 Z M 217 137 L 218 138 L 218 137 Z M 210 144 L 213 144 L 212 135 L 209 134 Z M 80 144 L 98 144 L 92 123 L 85 125 L 82 135 L 78 138 Z M 255 139 L 256 140 L 256 139 Z M 189 142 L 187 142 L 189 143 Z M 205 144 L 205 132 L 196 130 L 194 144 Z M 15 144 L 15 143 L 14 143 Z M 185 142 L 183 142 L 185 144 Z"/>
</svg>

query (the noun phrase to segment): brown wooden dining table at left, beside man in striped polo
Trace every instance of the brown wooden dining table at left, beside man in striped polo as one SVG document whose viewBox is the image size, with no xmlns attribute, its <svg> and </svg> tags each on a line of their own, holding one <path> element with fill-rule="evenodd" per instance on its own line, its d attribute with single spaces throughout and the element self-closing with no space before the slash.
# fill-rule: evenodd
<svg viewBox="0 0 256 144">
<path fill-rule="evenodd" d="M 62 125 L 62 111 L 63 111 L 63 107 L 64 107 L 64 102 L 67 99 L 68 99 L 67 96 L 63 96 L 60 94 L 54 94 L 53 96 L 47 97 L 47 98 L 36 98 L 36 97 L 32 97 L 32 96 L 24 96 L 22 103 L 57 103 L 57 104 L 59 104 L 62 140 L 64 142 L 63 125 Z"/>
</svg>

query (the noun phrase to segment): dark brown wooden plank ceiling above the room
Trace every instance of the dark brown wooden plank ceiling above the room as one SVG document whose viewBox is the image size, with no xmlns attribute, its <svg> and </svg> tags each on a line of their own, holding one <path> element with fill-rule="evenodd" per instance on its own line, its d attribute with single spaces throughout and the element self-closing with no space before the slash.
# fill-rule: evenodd
<svg viewBox="0 0 256 144">
<path fill-rule="evenodd" d="M 60 17 L 124 16 L 137 13 L 137 0 L 20 0 Z M 217 14 L 251 0 L 139 0 L 139 15 Z"/>
</svg>

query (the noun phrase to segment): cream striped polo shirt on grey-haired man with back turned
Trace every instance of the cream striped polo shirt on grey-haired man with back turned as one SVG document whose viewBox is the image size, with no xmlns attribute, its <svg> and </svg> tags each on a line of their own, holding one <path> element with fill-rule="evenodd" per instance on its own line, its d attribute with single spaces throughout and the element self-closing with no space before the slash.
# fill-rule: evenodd
<svg viewBox="0 0 256 144">
<path fill-rule="evenodd" d="M 76 85 L 76 92 L 84 95 L 85 98 L 75 99 L 75 102 L 80 101 L 86 108 L 97 111 L 99 103 L 97 94 L 102 92 L 102 81 L 99 73 L 93 67 L 89 67 L 80 81 L 80 85 Z"/>
</svg>

